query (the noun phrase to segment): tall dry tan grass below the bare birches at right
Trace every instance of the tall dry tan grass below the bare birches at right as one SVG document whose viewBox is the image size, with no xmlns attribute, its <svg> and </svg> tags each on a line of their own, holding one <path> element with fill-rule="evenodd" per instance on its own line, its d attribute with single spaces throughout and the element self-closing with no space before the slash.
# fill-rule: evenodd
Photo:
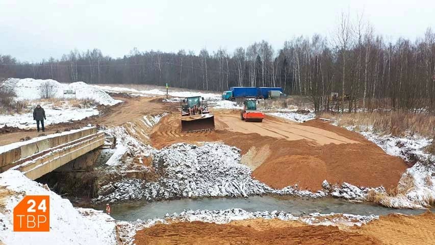
<svg viewBox="0 0 435 245">
<path fill-rule="evenodd" d="M 435 115 L 406 112 L 356 112 L 345 114 L 323 113 L 321 117 L 338 121 L 339 126 L 355 126 L 363 130 L 373 126 L 381 134 L 403 137 L 418 134 L 424 137 L 435 135 Z"/>
</svg>

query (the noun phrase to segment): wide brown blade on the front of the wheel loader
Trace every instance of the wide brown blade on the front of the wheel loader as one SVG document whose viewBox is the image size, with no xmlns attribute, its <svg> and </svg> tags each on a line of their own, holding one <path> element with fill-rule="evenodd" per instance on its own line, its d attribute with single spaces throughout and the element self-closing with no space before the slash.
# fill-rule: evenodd
<svg viewBox="0 0 435 245">
<path fill-rule="evenodd" d="M 215 117 L 212 114 L 199 114 L 181 117 L 181 131 L 195 132 L 215 129 Z"/>
</svg>

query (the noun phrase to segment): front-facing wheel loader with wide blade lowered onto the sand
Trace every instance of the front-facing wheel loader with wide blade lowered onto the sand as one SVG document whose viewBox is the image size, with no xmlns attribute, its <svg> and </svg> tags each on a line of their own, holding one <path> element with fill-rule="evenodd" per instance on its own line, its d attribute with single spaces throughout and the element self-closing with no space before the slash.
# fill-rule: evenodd
<svg viewBox="0 0 435 245">
<path fill-rule="evenodd" d="M 215 118 L 201 96 L 186 97 L 181 102 L 181 131 L 196 132 L 215 129 Z"/>
</svg>

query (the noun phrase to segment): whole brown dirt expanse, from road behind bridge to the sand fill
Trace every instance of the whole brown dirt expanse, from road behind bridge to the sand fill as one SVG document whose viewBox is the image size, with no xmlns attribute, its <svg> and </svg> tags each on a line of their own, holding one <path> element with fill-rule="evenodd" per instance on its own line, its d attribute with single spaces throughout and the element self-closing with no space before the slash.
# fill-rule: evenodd
<svg viewBox="0 0 435 245">
<path fill-rule="evenodd" d="M 322 189 L 348 182 L 357 186 L 394 188 L 406 164 L 387 155 L 362 135 L 335 127 L 320 119 L 303 124 L 266 115 L 263 122 L 245 122 L 239 110 L 213 109 L 216 130 L 182 133 L 177 103 L 163 97 L 112 95 L 123 103 L 101 107 L 100 115 L 74 122 L 48 125 L 45 134 L 80 128 L 88 124 L 123 126 L 132 136 L 161 149 L 177 142 L 200 144 L 218 141 L 241 149 L 241 162 L 251 167 L 252 176 L 274 188 L 297 184 L 300 189 Z M 143 117 L 169 113 L 150 132 Z M 0 134 L 0 145 L 37 137 L 36 131 Z"/>
</svg>

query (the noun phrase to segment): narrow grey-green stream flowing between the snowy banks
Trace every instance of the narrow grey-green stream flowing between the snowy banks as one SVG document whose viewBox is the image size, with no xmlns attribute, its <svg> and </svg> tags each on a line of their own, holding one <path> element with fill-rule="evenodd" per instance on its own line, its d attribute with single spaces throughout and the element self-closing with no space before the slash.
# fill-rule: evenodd
<svg viewBox="0 0 435 245">
<path fill-rule="evenodd" d="M 96 207 L 103 210 L 104 207 Z M 180 213 L 184 209 L 229 209 L 241 208 L 247 211 L 285 211 L 295 216 L 308 213 L 350 213 L 361 215 L 384 215 L 388 213 L 420 214 L 425 210 L 391 209 L 369 203 L 352 204 L 338 199 L 280 199 L 275 197 L 182 199 L 161 202 L 130 202 L 111 205 L 111 216 L 118 220 L 162 218 L 166 213 Z"/>
</svg>

